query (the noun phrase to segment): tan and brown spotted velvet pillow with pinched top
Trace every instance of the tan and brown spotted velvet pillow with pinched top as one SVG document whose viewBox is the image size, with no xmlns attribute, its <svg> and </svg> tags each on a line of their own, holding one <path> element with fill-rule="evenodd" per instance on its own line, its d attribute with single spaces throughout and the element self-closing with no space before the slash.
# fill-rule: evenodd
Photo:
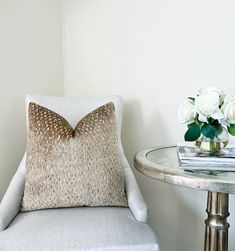
<svg viewBox="0 0 235 251">
<path fill-rule="evenodd" d="M 29 104 L 27 175 L 21 211 L 127 206 L 115 108 L 107 103 L 75 129 L 59 114 Z"/>
</svg>

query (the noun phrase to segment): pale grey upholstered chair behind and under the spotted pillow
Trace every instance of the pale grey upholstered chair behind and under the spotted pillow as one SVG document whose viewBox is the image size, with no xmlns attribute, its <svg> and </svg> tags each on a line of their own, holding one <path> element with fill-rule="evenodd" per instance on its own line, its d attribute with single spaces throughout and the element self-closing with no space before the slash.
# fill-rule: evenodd
<svg viewBox="0 0 235 251">
<path fill-rule="evenodd" d="M 21 212 L 26 181 L 26 154 L 0 204 L 1 251 L 158 251 L 155 234 L 147 224 L 148 209 L 121 145 L 122 99 L 26 96 L 51 109 L 74 127 L 95 108 L 113 102 L 118 146 L 128 207 L 71 207 Z M 28 125 L 28 119 L 27 119 Z"/>
</svg>

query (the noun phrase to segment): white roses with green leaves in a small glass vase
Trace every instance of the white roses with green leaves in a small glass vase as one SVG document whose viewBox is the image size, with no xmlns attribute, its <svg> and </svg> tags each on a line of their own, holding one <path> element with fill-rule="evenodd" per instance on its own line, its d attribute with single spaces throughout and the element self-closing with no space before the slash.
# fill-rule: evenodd
<svg viewBox="0 0 235 251">
<path fill-rule="evenodd" d="M 235 136 L 235 96 L 215 87 L 201 88 L 195 97 L 185 99 L 178 116 L 188 126 L 185 141 L 196 141 L 203 150 L 220 151 L 227 145 L 229 134 Z"/>
</svg>

